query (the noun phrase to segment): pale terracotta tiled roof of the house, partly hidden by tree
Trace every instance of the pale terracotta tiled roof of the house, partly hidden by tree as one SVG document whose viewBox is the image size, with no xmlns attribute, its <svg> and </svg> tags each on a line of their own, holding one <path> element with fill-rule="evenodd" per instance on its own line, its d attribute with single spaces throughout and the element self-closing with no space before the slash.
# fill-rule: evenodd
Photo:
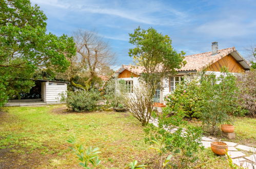
<svg viewBox="0 0 256 169">
<path fill-rule="evenodd" d="M 187 64 L 181 69 L 178 69 L 178 72 L 181 71 L 202 71 L 208 66 L 212 65 L 214 62 L 220 60 L 221 58 L 227 56 L 228 54 L 237 51 L 234 47 L 218 50 L 218 53 L 212 54 L 211 52 L 194 54 L 185 56 Z M 140 75 L 145 69 L 143 66 L 128 66 L 123 65 L 122 68 L 116 72 L 120 72 L 122 69 L 131 71 L 134 74 Z"/>
</svg>

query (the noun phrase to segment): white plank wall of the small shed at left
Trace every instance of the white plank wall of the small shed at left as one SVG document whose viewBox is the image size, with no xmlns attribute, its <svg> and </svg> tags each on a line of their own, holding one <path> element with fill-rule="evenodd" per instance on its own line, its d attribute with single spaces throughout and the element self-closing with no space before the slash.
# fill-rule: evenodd
<svg viewBox="0 0 256 169">
<path fill-rule="evenodd" d="M 49 85 L 52 83 L 52 85 Z M 64 84 L 64 85 L 57 85 Z M 67 83 L 58 82 L 45 82 L 45 102 L 46 103 L 57 103 L 60 102 L 60 94 L 67 91 Z"/>
</svg>

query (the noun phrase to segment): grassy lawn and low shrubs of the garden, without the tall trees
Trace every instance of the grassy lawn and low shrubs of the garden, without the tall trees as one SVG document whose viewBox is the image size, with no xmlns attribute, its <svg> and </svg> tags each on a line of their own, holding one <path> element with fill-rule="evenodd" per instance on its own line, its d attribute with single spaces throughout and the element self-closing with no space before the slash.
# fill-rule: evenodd
<svg viewBox="0 0 256 169">
<path fill-rule="evenodd" d="M 124 81 L 116 86 L 115 79 L 109 80 L 104 93 L 68 91 L 62 96 L 66 104 L 2 108 L 0 166 L 235 168 L 231 158 L 204 149 L 200 140 L 212 136 L 255 146 L 254 107 L 248 107 L 254 96 L 240 88 L 240 82 L 254 74 L 252 70 L 238 77 L 223 69 L 215 77 L 203 72 L 167 95 L 162 111 L 153 107 L 149 85 L 134 88 L 131 96 Z M 251 90 L 253 81 L 243 85 Z M 224 138 L 221 124 L 233 124 L 236 137 Z"/>
</svg>

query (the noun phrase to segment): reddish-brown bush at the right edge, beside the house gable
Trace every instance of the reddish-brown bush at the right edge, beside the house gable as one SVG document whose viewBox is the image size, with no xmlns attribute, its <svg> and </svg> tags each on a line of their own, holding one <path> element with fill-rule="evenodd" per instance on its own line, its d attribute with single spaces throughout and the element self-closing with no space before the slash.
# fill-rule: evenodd
<svg viewBox="0 0 256 169">
<path fill-rule="evenodd" d="M 256 117 L 256 70 L 240 74 L 237 86 L 240 90 L 240 105 L 247 110 L 245 115 Z"/>
</svg>

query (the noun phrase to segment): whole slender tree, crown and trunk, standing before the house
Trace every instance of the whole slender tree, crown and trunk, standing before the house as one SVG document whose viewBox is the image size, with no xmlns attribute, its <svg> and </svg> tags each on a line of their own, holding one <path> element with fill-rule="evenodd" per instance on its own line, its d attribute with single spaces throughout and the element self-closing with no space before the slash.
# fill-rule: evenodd
<svg viewBox="0 0 256 169">
<path fill-rule="evenodd" d="M 185 53 L 183 51 L 181 53 L 176 52 L 171 45 L 170 37 L 158 33 L 153 28 L 144 30 L 139 27 L 129 35 L 129 43 L 135 46 L 133 49 L 129 49 L 129 56 L 133 58 L 136 65 L 144 67 L 144 73 L 140 76 L 140 84 L 144 84 L 147 92 L 149 92 L 147 98 L 143 95 L 138 96 L 145 99 L 141 104 L 140 114 L 141 117 L 147 114 L 148 119 L 150 119 L 152 100 L 155 90 L 161 87 L 161 78 L 176 73 L 175 69 L 179 69 L 185 64 L 183 61 Z M 130 99 L 132 98 L 130 97 Z M 146 123 L 142 123 L 143 125 L 148 123 L 148 120 L 145 119 L 141 121 L 146 121 Z"/>
</svg>

